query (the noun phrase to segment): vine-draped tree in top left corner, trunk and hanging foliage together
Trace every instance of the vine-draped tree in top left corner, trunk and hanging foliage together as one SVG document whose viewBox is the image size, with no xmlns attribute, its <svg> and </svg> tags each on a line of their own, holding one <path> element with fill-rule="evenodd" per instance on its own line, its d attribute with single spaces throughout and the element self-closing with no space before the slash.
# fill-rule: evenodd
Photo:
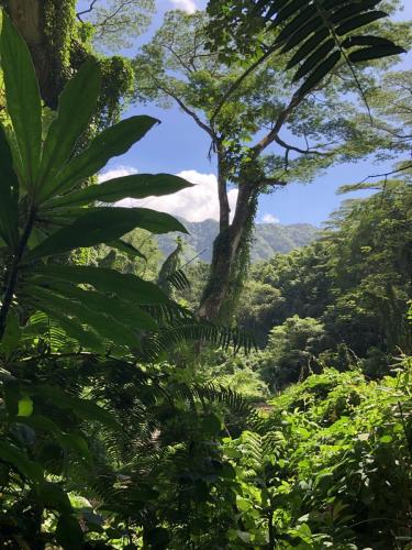
<svg viewBox="0 0 412 550">
<path fill-rule="evenodd" d="M 64 85 L 93 57 L 99 62 L 103 80 L 94 123 L 99 127 L 113 123 L 120 114 L 121 99 L 132 85 L 130 64 L 120 56 L 93 54 L 90 44 L 93 30 L 76 18 L 76 0 L 3 0 L 0 4 L 30 47 L 45 106 L 56 110 Z"/>
</svg>

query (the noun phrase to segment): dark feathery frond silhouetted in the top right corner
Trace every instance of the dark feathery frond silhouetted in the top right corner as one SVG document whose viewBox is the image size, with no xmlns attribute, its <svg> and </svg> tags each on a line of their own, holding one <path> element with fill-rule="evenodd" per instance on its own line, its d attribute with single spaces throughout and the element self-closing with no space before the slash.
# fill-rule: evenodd
<svg viewBox="0 0 412 550">
<path fill-rule="evenodd" d="M 386 12 L 375 10 L 380 1 L 314 0 L 309 6 L 303 0 L 266 2 L 268 11 L 264 15 L 265 20 L 280 28 L 275 47 L 281 47 L 283 53 L 298 48 L 288 67 L 301 63 L 293 77 L 293 80 L 305 79 L 299 95 L 313 89 L 342 57 L 350 64 L 404 53 L 402 47 L 391 41 L 386 41 L 382 47 L 377 43 L 370 45 L 341 38 L 386 18 Z M 275 12 L 270 10 L 274 6 L 277 7 Z M 379 41 L 379 37 L 376 38 Z"/>
</svg>

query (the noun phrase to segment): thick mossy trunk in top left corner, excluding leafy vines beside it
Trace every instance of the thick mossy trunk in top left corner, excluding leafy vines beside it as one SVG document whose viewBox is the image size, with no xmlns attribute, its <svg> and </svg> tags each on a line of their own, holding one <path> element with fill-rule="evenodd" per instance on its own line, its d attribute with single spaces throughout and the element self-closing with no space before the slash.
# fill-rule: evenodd
<svg viewBox="0 0 412 550">
<path fill-rule="evenodd" d="M 76 0 L 9 0 L 7 10 L 26 41 L 42 98 L 56 109 L 58 95 L 70 74 Z"/>
</svg>

